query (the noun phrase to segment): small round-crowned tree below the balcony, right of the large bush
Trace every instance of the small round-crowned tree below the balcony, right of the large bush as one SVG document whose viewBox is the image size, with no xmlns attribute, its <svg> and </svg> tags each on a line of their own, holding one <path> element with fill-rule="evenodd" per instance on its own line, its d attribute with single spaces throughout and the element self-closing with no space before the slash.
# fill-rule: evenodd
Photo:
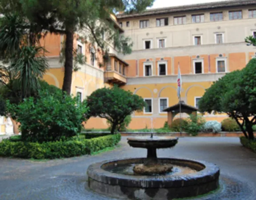
<svg viewBox="0 0 256 200">
<path fill-rule="evenodd" d="M 92 92 L 87 98 L 87 105 L 88 118 L 99 116 L 107 119 L 112 124 L 111 133 L 113 134 L 116 127 L 120 126 L 128 115 L 134 111 L 142 111 L 145 104 L 140 96 L 114 86 Z"/>
</svg>

